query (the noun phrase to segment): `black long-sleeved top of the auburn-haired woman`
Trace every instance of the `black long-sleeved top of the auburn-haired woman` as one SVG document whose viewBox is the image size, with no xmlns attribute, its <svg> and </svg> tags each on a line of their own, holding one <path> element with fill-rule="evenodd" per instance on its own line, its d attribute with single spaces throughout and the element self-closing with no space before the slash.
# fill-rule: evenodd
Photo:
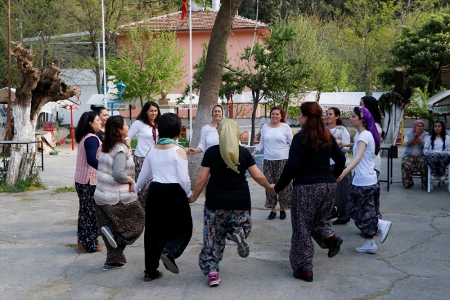
<svg viewBox="0 0 450 300">
<path fill-rule="evenodd" d="M 294 135 L 289 158 L 285 168 L 282 170 L 280 180 L 275 186 L 276 193 L 282 191 L 294 179 L 294 186 L 297 184 L 319 184 L 335 183 L 336 178 L 342 174 L 345 166 L 345 155 L 341 148 L 332 138 L 332 150 L 316 151 L 312 148 L 311 142 L 307 139 L 302 144 L 302 133 Z M 330 168 L 330 157 L 334 160 L 334 172 Z"/>
</svg>

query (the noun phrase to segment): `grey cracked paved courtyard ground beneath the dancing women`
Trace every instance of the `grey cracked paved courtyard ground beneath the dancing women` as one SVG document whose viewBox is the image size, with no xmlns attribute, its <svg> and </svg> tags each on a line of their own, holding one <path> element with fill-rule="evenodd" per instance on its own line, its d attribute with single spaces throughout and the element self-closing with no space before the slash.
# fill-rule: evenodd
<svg viewBox="0 0 450 300">
<path fill-rule="evenodd" d="M 209 288 L 197 264 L 203 239 L 203 204 L 191 205 L 194 232 L 177 260 L 180 273 L 162 266 L 162 279 L 145 283 L 143 236 L 125 249 L 127 265 L 102 271 L 106 249 L 88 254 L 75 248 L 78 197 L 55 193 L 73 186 L 76 150 L 59 148 L 44 157 L 46 190 L 0 194 L 0 298 L 3 299 L 449 299 L 450 195 L 447 186 L 422 191 L 418 179 L 402 187 L 400 161 L 394 159 L 390 192 L 381 184 L 381 213 L 393 222 L 377 254 L 360 254 L 354 224 L 333 225 L 343 237 L 341 252 L 327 258 L 316 245 L 314 282 L 292 277 L 289 263 L 291 221 L 267 220 L 264 189 L 249 179 L 253 229 L 251 254 L 240 258 L 227 243 L 220 264 L 222 283 Z M 384 170 L 386 170 L 386 159 Z M 381 174 L 381 179 L 385 175 Z M 170 211 L 161 211 L 170 218 Z M 161 224 L 163 226 L 163 224 Z M 378 240 L 378 238 L 377 238 Z M 100 238 L 100 244 L 103 240 Z"/>
</svg>

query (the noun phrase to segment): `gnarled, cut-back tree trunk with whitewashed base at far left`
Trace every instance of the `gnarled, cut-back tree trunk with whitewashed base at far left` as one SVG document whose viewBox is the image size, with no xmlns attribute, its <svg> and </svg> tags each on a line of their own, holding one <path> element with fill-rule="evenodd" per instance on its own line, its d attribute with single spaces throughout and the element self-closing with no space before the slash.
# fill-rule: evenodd
<svg viewBox="0 0 450 300">
<path fill-rule="evenodd" d="M 37 117 L 42 106 L 50 101 L 68 99 L 75 95 L 72 86 L 62 80 L 60 69 L 50 64 L 42 72 L 33 67 L 35 56 L 21 43 L 12 51 L 17 60 L 17 70 L 21 74 L 20 86 L 16 89 L 16 100 L 12 106 L 14 114 L 13 141 L 34 141 Z M 33 156 L 24 155 L 26 145 L 11 148 L 11 157 L 6 174 L 6 184 L 15 184 L 18 179 L 25 179 L 33 171 Z M 35 145 L 28 150 L 35 151 Z M 32 159 L 30 159 L 30 157 Z M 22 170 L 21 172 L 19 170 Z M 19 174 L 21 173 L 21 174 Z M 19 176 L 20 175 L 20 176 Z"/>
</svg>

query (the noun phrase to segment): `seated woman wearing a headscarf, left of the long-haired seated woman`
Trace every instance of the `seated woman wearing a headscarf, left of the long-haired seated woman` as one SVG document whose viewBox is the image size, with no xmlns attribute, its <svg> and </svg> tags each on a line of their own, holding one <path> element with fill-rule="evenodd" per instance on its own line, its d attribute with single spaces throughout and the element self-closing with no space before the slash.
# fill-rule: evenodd
<svg viewBox="0 0 450 300">
<path fill-rule="evenodd" d="M 426 189 L 424 143 L 427 136 L 429 134 L 424 130 L 424 121 L 422 120 L 415 121 L 413 130 L 405 134 L 403 145 L 406 149 L 402 159 L 402 184 L 405 188 L 411 188 L 414 185 L 413 173 L 420 173 L 422 189 Z"/>
</svg>

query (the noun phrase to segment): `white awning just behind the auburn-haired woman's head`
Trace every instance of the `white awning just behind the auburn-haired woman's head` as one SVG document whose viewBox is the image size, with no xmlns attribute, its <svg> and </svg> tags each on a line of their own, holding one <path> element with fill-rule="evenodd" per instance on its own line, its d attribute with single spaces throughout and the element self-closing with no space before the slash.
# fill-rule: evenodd
<svg viewBox="0 0 450 300">
<path fill-rule="evenodd" d="M 364 92 L 321 93 L 318 104 L 324 110 L 336 107 L 341 112 L 352 112 L 355 106 L 359 106 L 364 96 L 366 96 Z"/>
</svg>

